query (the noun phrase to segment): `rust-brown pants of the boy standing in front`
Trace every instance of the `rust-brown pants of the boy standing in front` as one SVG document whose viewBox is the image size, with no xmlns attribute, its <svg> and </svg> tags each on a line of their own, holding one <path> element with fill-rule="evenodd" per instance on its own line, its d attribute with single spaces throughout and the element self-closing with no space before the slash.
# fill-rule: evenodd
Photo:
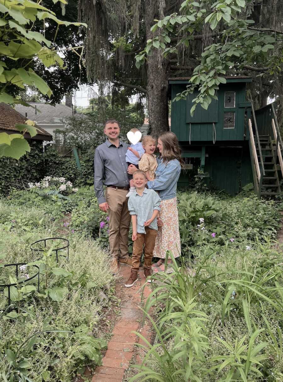
<svg viewBox="0 0 283 382">
<path fill-rule="evenodd" d="M 155 246 L 155 239 L 157 231 L 152 228 L 145 227 L 146 233 L 137 233 L 137 238 L 134 241 L 133 256 L 132 256 L 132 270 L 139 270 L 139 263 L 142 255 L 142 248 L 144 246 L 144 268 L 151 269 L 151 261 L 153 257 L 153 250 Z"/>
</svg>

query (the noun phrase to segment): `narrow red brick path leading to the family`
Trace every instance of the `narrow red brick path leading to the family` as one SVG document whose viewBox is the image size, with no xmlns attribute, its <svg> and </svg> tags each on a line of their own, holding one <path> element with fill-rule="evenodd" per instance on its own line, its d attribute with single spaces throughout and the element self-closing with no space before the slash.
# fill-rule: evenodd
<svg viewBox="0 0 283 382">
<path fill-rule="evenodd" d="M 102 359 L 102 366 L 95 369 L 92 382 L 118 382 L 123 380 L 124 373 L 129 367 L 129 362 L 135 357 L 135 363 L 141 363 L 144 351 L 139 349 L 134 356 L 134 343 L 142 343 L 132 331 L 139 331 L 149 342 L 151 341 L 151 328 L 147 325 L 142 327 L 143 313 L 141 305 L 141 287 L 145 282 L 143 269 L 139 271 L 139 281 L 131 288 L 126 288 L 124 283 L 128 280 L 131 268 L 122 265 L 120 269 L 121 279 L 116 282 L 116 288 L 120 288 L 123 298 L 121 299 L 120 319 L 113 328 L 113 336 L 108 342 L 108 348 Z M 144 290 L 144 299 L 151 292 L 150 284 Z"/>
</svg>

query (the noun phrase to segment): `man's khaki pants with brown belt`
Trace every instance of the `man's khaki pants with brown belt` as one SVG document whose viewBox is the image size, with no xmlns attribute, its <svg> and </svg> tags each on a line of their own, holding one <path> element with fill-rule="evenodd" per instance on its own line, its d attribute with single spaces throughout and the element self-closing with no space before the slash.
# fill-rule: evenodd
<svg viewBox="0 0 283 382">
<path fill-rule="evenodd" d="M 108 203 L 110 255 L 124 259 L 129 255 L 128 236 L 131 215 L 128 210 L 128 190 L 106 187 Z"/>
</svg>

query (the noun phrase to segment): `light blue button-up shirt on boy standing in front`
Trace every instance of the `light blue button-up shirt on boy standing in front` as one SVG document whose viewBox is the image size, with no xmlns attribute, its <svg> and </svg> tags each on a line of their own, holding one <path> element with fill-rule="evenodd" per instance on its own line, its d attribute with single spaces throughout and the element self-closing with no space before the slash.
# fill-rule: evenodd
<svg viewBox="0 0 283 382">
<path fill-rule="evenodd" d="M 152 189 L 144 189 L 142 196 L 137 192 L 132 194 L 128 200 L 128 209 L 130 215 L 137 215 L 137 233 L 146 233 L 144 222 L 152 217 L 153 211 L 160 211 L 161 199 Z M 157 230 L 157 219 L 155 218 L 149 225 L 149 228 Z"/>
</svg>

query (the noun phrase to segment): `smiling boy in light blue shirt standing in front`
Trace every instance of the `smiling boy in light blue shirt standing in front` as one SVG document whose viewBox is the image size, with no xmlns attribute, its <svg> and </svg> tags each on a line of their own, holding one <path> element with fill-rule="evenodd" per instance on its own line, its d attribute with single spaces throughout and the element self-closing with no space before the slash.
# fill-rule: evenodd
<svg viewBox="0 0 283 382">
<path fill-rule="evenodd" d="M 151 261 L 157 236 L 157 214 L 160 211 L 161 199 L 152 189 L 145 188 L 146 174 L 137 170 L 133 174 L 136 192 L 129 197 L 128 209 L 132 216 L 134 241 L 131 275 L 125 286 L 133 286 L 138 280 L 139 263 L 144 246 L 144 277 L 151 276 Z M 147 280 L 151 282 L 151 280 Z"/>
</svg>

